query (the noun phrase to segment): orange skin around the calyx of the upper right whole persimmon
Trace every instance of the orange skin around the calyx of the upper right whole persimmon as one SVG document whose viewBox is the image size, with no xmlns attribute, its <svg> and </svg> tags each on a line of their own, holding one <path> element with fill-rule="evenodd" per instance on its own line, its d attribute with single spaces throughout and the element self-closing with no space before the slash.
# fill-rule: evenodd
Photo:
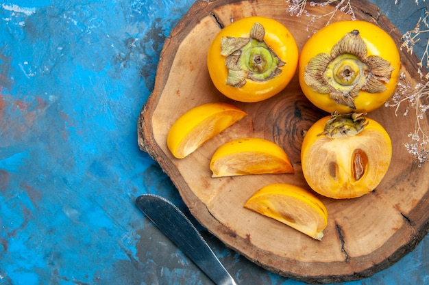
<svg viewBox="0 0 429 285">
<path fill-rule="evenodd" d="M 305 68 L 310 59 L 319 53 L 331 53 L 332 46 L 341 40 L 346 33 L 354 29 L 359 31 L 360 37 L 367 44 L 367 56 L 378 55 L 389 61 L 394 68 L 390 81 L 384 83 L 386 87 L 384 92 L 369 93 L 360 91 L 359 95 L 354 99 L 356 109 L 336 104 L 330 98 L 329 94 L 320 94 L 312 90 L 304 81 Z M 365 21 L 339 21 L 319 29 L 302 47 L 298 65 L 299 85 L 301 85 L 302 92 L 308 100 L 323 111 L 327 111 L 328 113 L 332 113 L 333 111 L 337 111 L 338 113 L 365 113 L 384 105 L 393 92 L 395 92 L 400 67 L 400 53 L 395 41 L 387 32 Z"/>
</svg>

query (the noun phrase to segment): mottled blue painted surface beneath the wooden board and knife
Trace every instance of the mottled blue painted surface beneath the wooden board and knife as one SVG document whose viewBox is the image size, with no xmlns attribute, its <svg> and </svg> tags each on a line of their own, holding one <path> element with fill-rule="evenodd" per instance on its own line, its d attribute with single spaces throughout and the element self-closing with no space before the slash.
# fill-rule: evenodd
<svg viewBox="0 0 429 285">
<path fill-rule="evenodd" d="M 136 124 L 164 39 L 193 2 L 0 3 L 1 285 L 211 284 L 134 206 L 138 195 L 157 193 L 186 212 L 138 149 Z M 402 32 L 429 5 L 373 3 Z M 238 284 L 304 284 L 199 229 Z M 429 237 L 392 267 L 347 284 L 429 284 Z"/>
</svg>

